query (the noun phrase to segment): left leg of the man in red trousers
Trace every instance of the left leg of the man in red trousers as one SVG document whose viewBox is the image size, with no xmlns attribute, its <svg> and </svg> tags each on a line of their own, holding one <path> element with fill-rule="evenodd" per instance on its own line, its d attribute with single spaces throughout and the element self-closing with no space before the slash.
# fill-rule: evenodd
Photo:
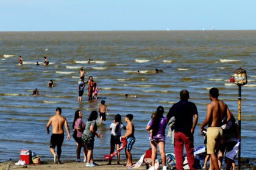
<svg viewBox="0 0 256 170">
<path fill-rule="evenodd" d="M 182 133 L 174 133 L 174 154 L 176 158 L 176 168 L 183 169 L 183 141 Z"/>
</svg>

